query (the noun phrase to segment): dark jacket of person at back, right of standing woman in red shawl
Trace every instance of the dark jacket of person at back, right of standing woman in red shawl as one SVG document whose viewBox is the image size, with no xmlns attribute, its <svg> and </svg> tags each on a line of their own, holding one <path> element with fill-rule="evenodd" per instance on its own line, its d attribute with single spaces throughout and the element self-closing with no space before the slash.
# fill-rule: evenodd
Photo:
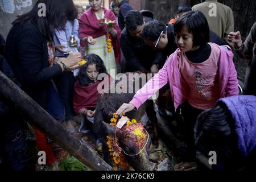
<svg viewBox="0 0 256 182">
<path fill-rule="evenodd" d="M 133 6 L 129 5 L 127 0 L 123 0 L 118 5 L 119 7 L 119 14 L 118 14 L 118 26 L 121 30 L 125 28 L 125 16 L 130 10 L 134 10 Z"/>
</svg>

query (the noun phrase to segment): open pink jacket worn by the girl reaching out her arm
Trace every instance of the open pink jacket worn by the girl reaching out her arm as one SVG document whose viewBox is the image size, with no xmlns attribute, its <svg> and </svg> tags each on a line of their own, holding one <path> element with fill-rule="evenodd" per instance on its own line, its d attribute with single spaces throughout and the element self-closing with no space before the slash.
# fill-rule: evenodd
<svg viewBox="0 0 256 182">
<path fill-rule="evenodd" d="M 218 46 L 214 43 L 209 43 L 212 52 L 208 60 L 218 59 L 217 64 L 217 76 L 218 80 L 218 98 L 235 96 L 238 95 L 238 81 L 237 72 L 233 63 L 233 52 L 228 46 Z M 217 55 L 217 56 L 216 56 Z M 148 98 L 153 96 L 156 91 L 162 88 L 167 82 L 170 84 L 171 96 L 174 101 L 175 109 L 185 102 L 190 100 L 192 97 L 189 92 L 191 88 L 184 78 L 184 72 L 181 69 L 183 61 L 188 61 L 185 59 L 185 53 L 181 52 L 178 48 L 172 55 L 168 58 L 164 67 L 151 78 L 150 81 L 146 83 L 133 97 L 130 104 L 133 104 L 137 109 L 141 106 Z M 207 72 L 207 70 L 205 70 Z M 216 89 L 214 89 L 216 91 Z M 216 98 L 214 98 L 216 99 Z M 205 102 L 208 102 L 207 100 Z M 198 108 L 200 109 L 200 108 Z M 201 108 L 208 109 L 208 108 Z"/>
</svg>

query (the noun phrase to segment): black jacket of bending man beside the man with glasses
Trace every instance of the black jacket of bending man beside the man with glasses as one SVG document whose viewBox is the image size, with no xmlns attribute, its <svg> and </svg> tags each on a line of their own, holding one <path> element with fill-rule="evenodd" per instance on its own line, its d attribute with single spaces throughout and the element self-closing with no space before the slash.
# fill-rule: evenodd
<svg viewBox="0 0 256 182">
<path fill-rule="evenodd" d="M 141 11 L 141 13 L 146 22 L 154 19 L 151 11 Z M 126 72 L 150 71 L 153 64 L 163 66 L 165 61 L 163 52 L 152 49 L 142 38 L 134 38 L 124 28 L 120 39 L 123 56 L 126 59 Z"/>
</svg>

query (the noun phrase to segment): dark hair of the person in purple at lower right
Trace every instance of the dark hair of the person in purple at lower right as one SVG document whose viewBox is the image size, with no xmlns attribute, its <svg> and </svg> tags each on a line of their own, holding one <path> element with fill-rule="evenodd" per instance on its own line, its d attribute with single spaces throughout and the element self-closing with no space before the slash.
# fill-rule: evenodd
<svg viewBox="0 0 256 182">
<path fill-rule="evenodd" d="M 229 161 L 238 156 L 234 121 L 226 105 L 220 103 L 197 118 L 194 136 L 196 148 L 205 156 L 215 151 L 218 159 Z"/>
</svg>

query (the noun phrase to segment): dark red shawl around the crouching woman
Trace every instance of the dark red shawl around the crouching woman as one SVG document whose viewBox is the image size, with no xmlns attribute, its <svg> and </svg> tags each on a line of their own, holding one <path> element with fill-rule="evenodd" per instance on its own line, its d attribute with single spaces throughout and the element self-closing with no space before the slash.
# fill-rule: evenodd
<svg viewBox="0 0 256 182">
<path fill-rule="evenodd" d="M 103 81 L 105 82 L 105 84 L 109 85 L 109 82 L 107 81 L 111 81 L 111 79 L 112 78 L 109 76 L 108 79 L 104 78 Z M 97 89 L 98 84 L 100 84 L 101 82 L 102 81 L 97 81 L 94 84 L 90 84 L 88 86 L 81 86 L 79 84 L 79 81 L 76 81 L 73 96 L 73 106 L 77 114 L 79 114 L 80 109 L 92 109 L 96 107 L 96 102 L 101 96 L 101 93 L 99 93 Z"/>
</svg>

